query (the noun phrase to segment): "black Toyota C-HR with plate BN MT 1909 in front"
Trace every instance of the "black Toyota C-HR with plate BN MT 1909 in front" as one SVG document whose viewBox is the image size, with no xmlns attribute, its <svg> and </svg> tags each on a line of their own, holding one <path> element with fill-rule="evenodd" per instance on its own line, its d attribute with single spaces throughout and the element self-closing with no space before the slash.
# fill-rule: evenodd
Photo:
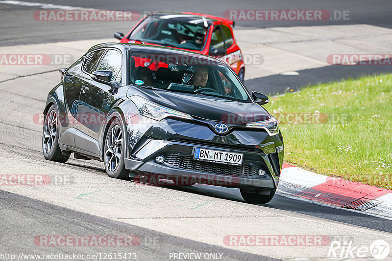
<svg viewBox="0 0 392 261">
<path fill-rule="evenodd" d="M 248 202 L 275 194 L 283 163 L 277 120 L 230 66 L 177 49 L 92 47 L 48 94 L 46 159 L 104 162 L 110 177 L 204 183 L 241 190 Z"/>
</svg>

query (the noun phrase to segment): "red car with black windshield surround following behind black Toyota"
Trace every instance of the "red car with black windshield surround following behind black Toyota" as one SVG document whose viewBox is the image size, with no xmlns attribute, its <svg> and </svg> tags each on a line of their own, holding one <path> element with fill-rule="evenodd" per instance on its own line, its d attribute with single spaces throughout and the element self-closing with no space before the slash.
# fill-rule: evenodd
<svg viewBox="0 0 392 261">
<path fill-rule="evenodd" d="M 168 46 L 218 57 L 244 82 L 245 65 L 232 27 L 233 21 L 211 15 L 154 12 L 136 24 L 125 37 L 118 32 L 114 37 L 121 43 Z"/>
</svg>

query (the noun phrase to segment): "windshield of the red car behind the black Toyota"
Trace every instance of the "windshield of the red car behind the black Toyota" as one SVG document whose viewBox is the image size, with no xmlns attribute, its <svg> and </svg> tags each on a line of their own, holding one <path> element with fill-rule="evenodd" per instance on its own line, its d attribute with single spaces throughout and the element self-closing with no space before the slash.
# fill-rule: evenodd
<svg viewBox="0 0 392 261">
<path fill-rule="evenodd" d="M 203 19 L 188 15 L 149 16 L 133 30 L 129 40 L 199 51 L 204 47 L 206 32 Z"/>
</svg>

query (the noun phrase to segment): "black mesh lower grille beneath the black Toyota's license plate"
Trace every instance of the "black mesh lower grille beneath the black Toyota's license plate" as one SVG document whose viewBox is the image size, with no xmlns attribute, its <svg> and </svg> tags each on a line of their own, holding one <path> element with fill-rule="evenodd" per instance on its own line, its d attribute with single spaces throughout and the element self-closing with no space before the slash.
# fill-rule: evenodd
<svg viewBox="0 0 392 261">
<path fill-rule="evenodd" d="M 242 166 L 233 166 L 220 163 L 198 161 L 194 160 L 193 156 L 179 156 L 178 154 L 167 155 L 165 163 L 171 165 L 172 167 L 190 171 L 199 171 L 203 173 L 231 175 L 239 177 L 251 177 L 257 175 L 260 168 L 255 164 L 253 164 L 252 166 L 245 164 L 243 164 Z"/>
</svg>

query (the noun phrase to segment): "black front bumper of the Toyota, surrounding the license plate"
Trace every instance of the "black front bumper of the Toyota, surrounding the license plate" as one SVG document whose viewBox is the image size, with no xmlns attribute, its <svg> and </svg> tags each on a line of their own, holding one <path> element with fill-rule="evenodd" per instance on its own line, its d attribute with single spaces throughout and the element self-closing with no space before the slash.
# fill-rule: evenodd
<svg viewBox="0 0 392 261">
<path fill-rule="evenodd" d="M 196 161 L 193 159 L 194 148 L 240 152 L 244 154 L 241 166 L 226 165 Z M 273 154 L 273 153 L 270 153 Z M 165 157 L 163 163 L 155 162 L 155 157 Z M 159 140 L 148 138 L 137 150 L 133 150 L 125 159 L 125 168 L 131 171 L 131 177 L 142 176 L 140 173 L 161 175 L 166 179 L 188 180 L 192 183 L 202 183 L 224 187 L 246 188 L 249 190 L 266 188 L 276 189 L 279 182 L 279 159 L 264 153 L 261 149 L 234 148 L 208 144 L 192 140 Z M 259 176 L 258 171 L 265 171 Z M 180 182 L 181 183 L 181 182 Z"/>
</svg>

